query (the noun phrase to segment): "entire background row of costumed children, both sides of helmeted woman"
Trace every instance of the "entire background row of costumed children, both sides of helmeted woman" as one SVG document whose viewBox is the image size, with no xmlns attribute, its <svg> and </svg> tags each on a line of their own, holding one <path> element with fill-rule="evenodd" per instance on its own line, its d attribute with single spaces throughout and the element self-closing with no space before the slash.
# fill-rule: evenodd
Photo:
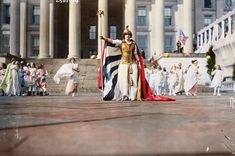
<svg viewBox="0 0 235 156">
<path fill-rule="evenodd" d="M 68 83 L 65 94 L 77 96 L 79 68 L 75 64 L 74 58 L 69 59 L 69 61 L 68 64 L 63 65 L 63 68 L 57 71 L 54 80 L 59 83 L 56 79 L 67 77 Z M 72 70 L 70 71 L 68 68 Z M 200 77 L 198 68 L 198 61 L 193 60 L 186 68 L 178 63 L 172 65 L 169 71 L 160 65 L 156 68 L 153 65 L 150 69 L 145 67 L 144 71 L 146 80 L 155 95 L 176 96 L 185 93 L 187 96 L 196 96 Z M 220 65 L 215 66 L 212 75 L 213 79 L 210 87 L 214 88 L 213 95 L 221 96 L 220 88 L 223 81 L 223 72 Z M 0 96 L 48 95 L 47 77 L 48 72 L 43 64 L 36 67 L 34 62 L 18 62 L 15 58 L 12 58 L 8 65 L 0 63 Z"/>
</svg>

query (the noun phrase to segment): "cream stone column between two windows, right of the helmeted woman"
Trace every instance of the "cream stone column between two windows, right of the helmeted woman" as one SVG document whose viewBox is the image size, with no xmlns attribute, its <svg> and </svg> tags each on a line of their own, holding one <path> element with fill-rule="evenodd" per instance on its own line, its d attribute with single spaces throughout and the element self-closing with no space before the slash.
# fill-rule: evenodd
<svg viewBox="0 0 235 156">
<path fill-rule="evenodd" d="M 152 55 L 155 57 L 164 53 L 164 0 L 155 0 L 153 5 L 152 23 Z"/>
</svg>

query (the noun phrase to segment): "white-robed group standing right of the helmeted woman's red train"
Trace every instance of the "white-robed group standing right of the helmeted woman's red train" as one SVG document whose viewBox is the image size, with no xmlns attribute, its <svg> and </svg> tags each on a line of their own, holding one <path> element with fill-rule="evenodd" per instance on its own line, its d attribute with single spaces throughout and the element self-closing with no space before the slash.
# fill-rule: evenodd
<svg viewBox="0 0 235 156">
<path fill-rule="evenodd" d="M 145 68 L 145 77 L 155 95 L 182 95 L 196 96 L 198 91 L 198 81 L 200 78 L 198 61 L 193 60 L 192 63 L 183 68 L 181 63 L 174 64 L 169 71 L 165 67 L 158 65 Z M 212 72 L 214 75 L 211 88 L 214 88 L 214 96 L 221 96 L 220 88 L 223 81 L 221 67 L 215 66 Z"/>
</svg>

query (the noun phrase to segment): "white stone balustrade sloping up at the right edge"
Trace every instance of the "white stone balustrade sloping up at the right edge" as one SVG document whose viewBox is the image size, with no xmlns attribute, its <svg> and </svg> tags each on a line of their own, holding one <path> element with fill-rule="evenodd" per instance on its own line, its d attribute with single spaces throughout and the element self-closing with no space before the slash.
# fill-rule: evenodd
<svg viewBox="0 0 235 156">
<path fill-rule="evenodd" d="M 205 53 L 203 47 L 213 44 L 235 31 L 235 9 L 217 19 L 197 33 L 198 53 Z"/>
</svg>

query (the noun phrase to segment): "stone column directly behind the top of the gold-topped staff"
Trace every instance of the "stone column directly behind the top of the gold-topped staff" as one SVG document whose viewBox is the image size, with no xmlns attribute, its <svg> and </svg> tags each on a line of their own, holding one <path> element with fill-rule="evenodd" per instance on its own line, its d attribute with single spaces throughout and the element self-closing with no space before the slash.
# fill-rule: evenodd
<svg viewBox="0 0 235 156">
<path fill-rule="evenodd" d="M 98 56 L 101 58 L 102 48 L 104 41 L 100 39 L 100 36 L 108 37 L 108 0 L 98 0 L 98 11 L 103 11 L 104 14 L 98 15 Z"/>
</svg>

